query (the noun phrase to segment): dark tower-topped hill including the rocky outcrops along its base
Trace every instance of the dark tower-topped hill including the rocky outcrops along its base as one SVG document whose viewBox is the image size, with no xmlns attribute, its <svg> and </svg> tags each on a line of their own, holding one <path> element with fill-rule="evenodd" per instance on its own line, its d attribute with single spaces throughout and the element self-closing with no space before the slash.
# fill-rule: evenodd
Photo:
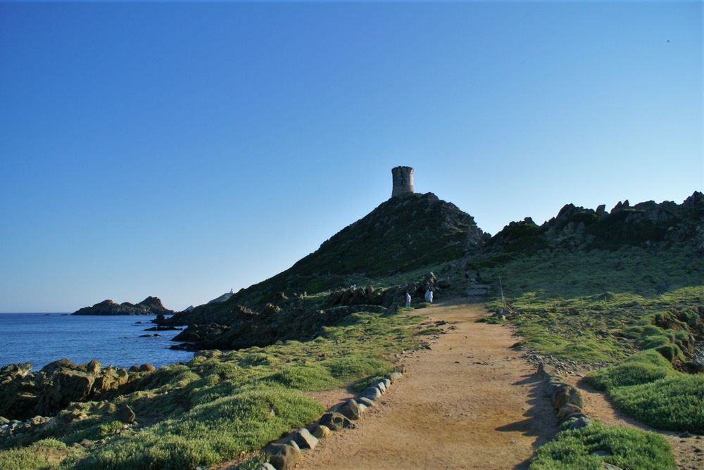
<svg viewBox="0 0 704 470">
<path fill-rule="evenodd" d="M 184 348 L 233 349 L 313 338 L 322 326 L 359 306 L 389 307 L 401 303 L 406 291 L 422 298 L 427 287 L 443 288 L 429 273 L 386 289 L 362 285 L 361 279 L 378 281 L 463 258 L 477 253 L 487 239 L 471 215 L 433 193 L 391 198 L 286 271 L 162 324 L 191 325 L 177 337 L 191 342 Z M 321 291 L 334 292 L 311 298 Z"/>
</svg>

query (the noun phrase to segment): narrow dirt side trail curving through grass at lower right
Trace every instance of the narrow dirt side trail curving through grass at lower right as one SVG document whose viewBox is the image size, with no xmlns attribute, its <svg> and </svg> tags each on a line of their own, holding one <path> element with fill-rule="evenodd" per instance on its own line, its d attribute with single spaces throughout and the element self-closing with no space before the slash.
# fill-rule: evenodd
<svg viewBox="0 0 704 470">
<path fill-rule="evenodd" d="M 681 438 L 681 433 L 658 431 L 628 417 L 615 409 L 605 394 L 586 384 L 578 377 L 569 376 L 566 381 L 579 388 L 584 400 L 584 411 L 589 417 L 601 421 L 608 426 L 629 426 L 642 431 L 653 431 L 660 434 L 672 445 L 672 452 L 677 466 L 683 470 L 704 469 L 704 439 L 700 436 Z"/>
</svg>

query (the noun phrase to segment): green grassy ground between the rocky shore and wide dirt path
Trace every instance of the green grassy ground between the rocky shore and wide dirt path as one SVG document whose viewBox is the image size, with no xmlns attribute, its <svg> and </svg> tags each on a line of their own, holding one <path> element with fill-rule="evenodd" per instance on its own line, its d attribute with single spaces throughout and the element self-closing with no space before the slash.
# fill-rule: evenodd
<svg viewBox="0 0 704 470">
<path fill-rule="evenodd" d="M 70 469 L 81 459 L 82 469 L 188 469 L 239 457 L 322 414 L 322 405 L 301 391 L 348 383 L 363 388 L 391 371 L 390 353 L 417 345 L 418 322 L 360 312 L 314 341 L 204 352 L 146 376 L 132 386 L 139 391 L 73 405 L 61 412 L 61 426 L 44 435 L 5 443 L 0 468 L 51 468 L 65 459 L 61 468 Z M 117 421 L 122 404 L 134 409 L 138 426 Z M 55 440 L 31 442 L 46 435 Z M 51 461 L 32 455 L 32 446 L 50 442 L 64 449 L 86 438 L 95 446 Z"/>
</svg>

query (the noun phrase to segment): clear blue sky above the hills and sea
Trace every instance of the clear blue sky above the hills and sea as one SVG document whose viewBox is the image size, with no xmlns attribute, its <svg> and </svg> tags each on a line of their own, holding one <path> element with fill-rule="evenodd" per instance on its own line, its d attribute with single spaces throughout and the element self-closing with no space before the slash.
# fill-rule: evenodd
<svg viewBox="0 0 704 470">
<path fill-rule="evenodd" d="M 0 4 L 0 312 L 266 279 L 389 198 L 704 186 L 700 2 Z M 669 42 L 668 42 L 669 41 Z"/>
</svg>

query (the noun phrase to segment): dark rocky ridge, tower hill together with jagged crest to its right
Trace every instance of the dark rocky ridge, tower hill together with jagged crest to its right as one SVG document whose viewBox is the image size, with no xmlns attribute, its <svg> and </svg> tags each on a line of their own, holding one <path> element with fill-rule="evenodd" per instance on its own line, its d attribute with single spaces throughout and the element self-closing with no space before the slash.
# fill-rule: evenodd
<svg viewBox="0 0 704 470">
<path fill-rule="evenodd" d="M 382 203 L 287 271 L 223 302 L 179 312 L 163 324 L 189 325 L 175 339 L 194 350 L 307 340 L 360 308 L 401 304 L 406 292 L 420 299 L 428 287 L 448 288 L 447 279 L 463 284 L 474 274 L 467 266 L 484 270 L 539 250 L 657 249 L 683 241 L 693 245 L 693 256 L 704 255 L 701 193 L 680 205 L 650 201 L 631 207 L 625 201 L 610 212 L 567 204 L 540 226 L 530 219 L 512 222 L 491 238 L 455 205 L 432 193 L 412 194 Z M 444 280 L 426 271 L 410 284 L 341 287 L 356 277 L 379 286 L 380 279 L 444 262 L 451 271 Z M 320 291 L 328 293 L 311 296 Z"/>
</svg>

